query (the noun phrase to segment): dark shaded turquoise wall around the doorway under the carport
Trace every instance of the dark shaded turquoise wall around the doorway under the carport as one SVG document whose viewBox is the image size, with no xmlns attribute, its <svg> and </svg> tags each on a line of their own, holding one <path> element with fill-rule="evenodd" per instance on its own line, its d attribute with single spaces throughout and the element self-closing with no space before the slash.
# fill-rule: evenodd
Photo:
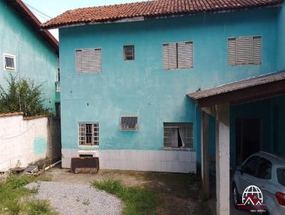
<svg viewBox="0 0 285 215">
<path fill-rule="evenodd" d="M 278 108 L 274 122 L 274 107 Z M 261 150 L 274 154 L 285 155 L 285 96 L 260 100 L 257 102 L 234 105 L 231 108 L 230 120 L 230 142 L 231 142 L 231 164 L 236 166 L 235 154 L 235 122 L 237 118 L 259 118 L 261 119 Z M 274 137 L 276 135 L 276 137 Z"/>
</svg>

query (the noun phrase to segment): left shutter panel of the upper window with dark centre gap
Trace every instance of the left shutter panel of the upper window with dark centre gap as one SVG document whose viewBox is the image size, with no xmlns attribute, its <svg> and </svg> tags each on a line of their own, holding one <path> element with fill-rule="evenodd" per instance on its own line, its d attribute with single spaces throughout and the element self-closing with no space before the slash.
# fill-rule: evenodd
<svg viewBox="0 0 285 215">
<path fill-rule="evenodd" d="M 163 44 L 162 50 L 163 69 L 171 70 L 177 68 L 177 47 L 176 43 Z"/>
</svg>

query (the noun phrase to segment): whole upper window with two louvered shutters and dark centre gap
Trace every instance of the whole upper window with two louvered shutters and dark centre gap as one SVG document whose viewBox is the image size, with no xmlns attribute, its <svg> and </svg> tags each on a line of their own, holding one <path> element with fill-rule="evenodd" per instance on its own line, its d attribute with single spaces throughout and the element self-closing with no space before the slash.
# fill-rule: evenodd
<svg viewBox="0 0 285 215">
<path fill-rule="evenodd" d="M 164 70 L 193 68 L 193 42 L 166 43 L 162 52 Z"/>
</svg>

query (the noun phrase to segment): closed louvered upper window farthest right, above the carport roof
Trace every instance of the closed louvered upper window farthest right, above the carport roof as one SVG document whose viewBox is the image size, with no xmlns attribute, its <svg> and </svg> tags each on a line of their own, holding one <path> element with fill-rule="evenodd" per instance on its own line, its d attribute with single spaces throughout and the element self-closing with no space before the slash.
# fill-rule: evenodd
<svg viewBox="0 0 285 215">
<path fill-rule="evenodd" d="M 261 36 L 229 38 L 229 65 L 261 64 L 261 41 Z"/>
</svg>

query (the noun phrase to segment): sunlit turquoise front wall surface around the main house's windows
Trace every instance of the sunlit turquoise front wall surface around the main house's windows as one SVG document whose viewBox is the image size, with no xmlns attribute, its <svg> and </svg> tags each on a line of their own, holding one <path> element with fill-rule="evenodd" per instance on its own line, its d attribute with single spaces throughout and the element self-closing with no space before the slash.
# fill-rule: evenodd
<svg viewBox="0 0 285 215">
<path fill-rule="evenodd" d="M 78 148 L 78 122 L 100 123 L 100 149 L 162 150 L 162 122 L 194 122 L 199 110 L 186 94 L 276 70 L 279 9 L 257 9 L 133 23 L 61 28 L 63 148 Z M 227 38 L 262 36 L 261 65 L 227 65 Z M 162 44 L 194 42 L 194 68 L 162 70 Z M 123 61 L 123 46 L 135 61 Z M 77 48 L 102 48 L 103 72 L 76 73 Z M 120 115 L 138 115 L 138 131 L 119 129 Z M 199 160 L 199 159 L 198 159 Z"/>
</svg>

